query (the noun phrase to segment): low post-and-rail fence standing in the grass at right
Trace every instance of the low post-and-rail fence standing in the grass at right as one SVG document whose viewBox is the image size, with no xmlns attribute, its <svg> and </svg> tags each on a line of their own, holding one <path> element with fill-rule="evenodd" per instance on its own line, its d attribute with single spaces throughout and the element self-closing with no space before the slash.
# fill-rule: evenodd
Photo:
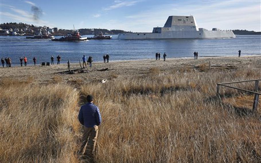
<svg viewBox="0 0 261 163">
<path fill-rule="evenodd" d="M 246 89 L 242 89 L 242 88 L 237 88 L 237 87 L 232 87 L 232 86 L 227 86 L 227 84 L 235 84 L 235 83 L 243 83 L 243 82 L 251 82 L 251 81 L 255 81 L 254 91 L 246 90 Z M 241 91 L 244 91 L 244 92 L 255 94 L 255 96 L 254 96 L 254 103 L 253 103 L 253 112 L 254 112 L 258 108 L 258 99 L 259 99 L 259 95 L 261 95 L 260 92 L 257 92 L 258 91 L 259 81 L 261 81 L 261 79 L 234 81 L 234 82 L 227 82 L 227 83 L 217 83 L 217 96 L 220 95 L 219 94 L 219 87 L 220 86 L 228 87 L 228 88 L 232 88 L 232 89 L 241 90 Z"/>
</svg>

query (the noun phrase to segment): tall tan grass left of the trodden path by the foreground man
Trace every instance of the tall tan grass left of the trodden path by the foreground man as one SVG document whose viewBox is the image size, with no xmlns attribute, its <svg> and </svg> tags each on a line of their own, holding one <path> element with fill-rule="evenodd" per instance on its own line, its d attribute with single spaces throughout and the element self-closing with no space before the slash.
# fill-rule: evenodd
<svg viewBox="0 0 261 163">
<path fill-rule="evenodd" d="M 77 162 L 78 92 L 18 83 L 0 87 L 1 162 Z"/>
</svg>

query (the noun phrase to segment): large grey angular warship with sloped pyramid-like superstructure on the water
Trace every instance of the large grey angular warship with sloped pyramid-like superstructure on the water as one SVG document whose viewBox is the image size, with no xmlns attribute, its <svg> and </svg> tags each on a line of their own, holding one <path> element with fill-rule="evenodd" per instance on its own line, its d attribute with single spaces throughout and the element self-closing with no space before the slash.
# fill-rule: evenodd
<svg viewBox="0 0 261 163">
<path fill-rule="evenodd" d="M 231 30 L 211 31 L 198 28 L 194 16 L 169 16 L 164 27 L 153 28 L 152 33 L 122 33 L 118 39 L 171 39 L 171 38 L 235 38 Z"/>
</svg>

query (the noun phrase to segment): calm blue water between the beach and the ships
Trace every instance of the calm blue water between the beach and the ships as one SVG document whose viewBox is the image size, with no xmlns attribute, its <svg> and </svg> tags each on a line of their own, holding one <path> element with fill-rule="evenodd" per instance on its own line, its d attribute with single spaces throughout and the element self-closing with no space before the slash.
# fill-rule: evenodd
<svg viewBox="0 0 261 163">
<path fill-rule="evenodd" d="M 89 36 L 88 36 L 89 37 Z M 0 36 L 0 58 L 11 57 L 13 64 L 19 64 L 19 57 L 27 56 L 32 64 L 50 62 L 50 56 L 59 54 L 61 63 L 79 62 L 83 55 L 93 56 L 94 62 L 103 61 L 105 53 L 110 60 L 154 59 L 155 53 L 166 52 L 167 58 L 200 56 L 261 55 L 261 35 L 238 35 L 233 39 L 168 39 L 168 40 L 89 40 L 83 42 L 56 42 L 51 40 L 26 39 L 25 36 Z"/>
</svg>

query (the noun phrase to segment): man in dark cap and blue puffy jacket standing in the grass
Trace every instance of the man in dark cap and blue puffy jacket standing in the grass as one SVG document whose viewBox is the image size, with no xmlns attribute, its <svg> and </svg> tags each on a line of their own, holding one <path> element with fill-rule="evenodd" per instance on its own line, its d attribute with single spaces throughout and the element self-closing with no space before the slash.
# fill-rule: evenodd
<svg viewBox="0 0 261 163">
<path fill-rule="evenodd" d="M 92 95 L 88 95 L 87 103 L 81 106 L 78 119 L 80 123 L 84 125 L 81 152 L 83 152 L 83 155 L 87 154 L 87 156 L 93 158 L 98 135 L 98 126 L 102 122 L 102 117 L 98 106 L 93 104 Z"/>
</svg>

